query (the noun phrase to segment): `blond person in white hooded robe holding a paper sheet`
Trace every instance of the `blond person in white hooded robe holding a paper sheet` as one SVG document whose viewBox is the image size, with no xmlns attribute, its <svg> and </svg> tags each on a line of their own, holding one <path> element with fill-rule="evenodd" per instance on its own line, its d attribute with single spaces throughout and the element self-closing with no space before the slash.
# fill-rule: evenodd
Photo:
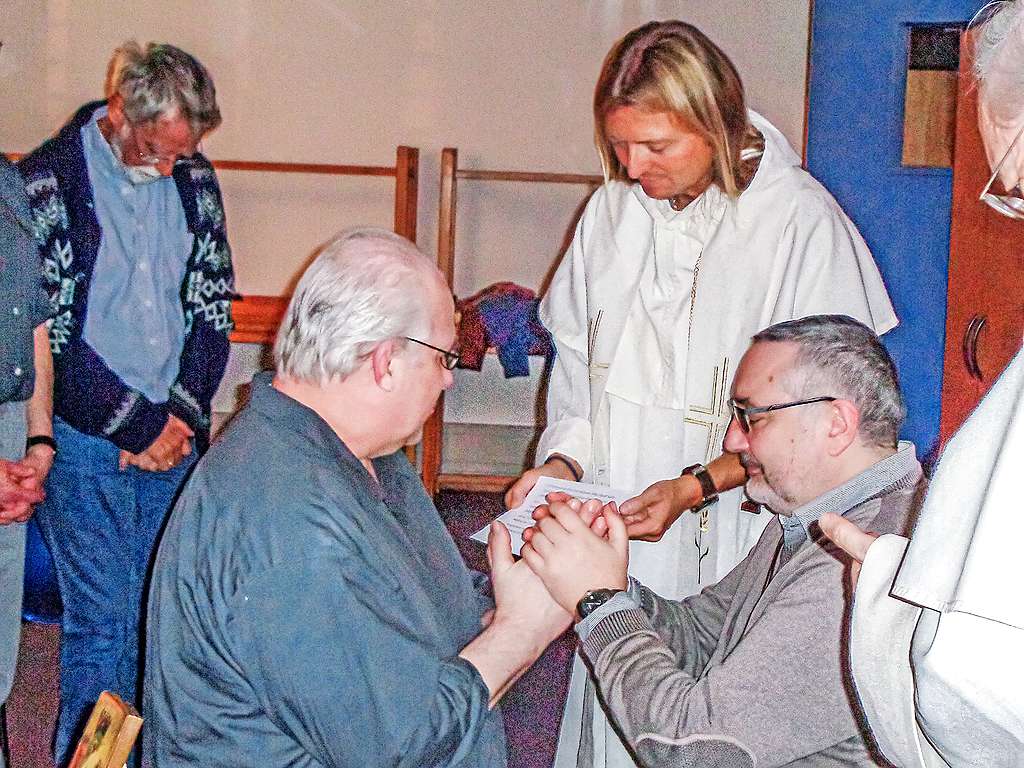
<svg viewBox="0 0 1024 768">
<path fill-rule="evenodd" d="M 745 473 L 720 457 L 751 337 L 815 313 L 879 334 L 897 321 L 856 227 L 746 110 L 731 61 L 698 30 L 651 23 L 618 41 L 594 115 L 608 181 L 541 307 L 557 349 L 547 428 L 506 503 L 542 475 L 636 490 L 622 506 L 630 572 L 679 599 L 721 579 L 767 521 L 739 511 Z M 705 498 L 680 477 L 694 464 L 721 498 L 684 516 Z M 633 766 L 586 687 L 578 656 L 556 766 Z"/>
</svg>

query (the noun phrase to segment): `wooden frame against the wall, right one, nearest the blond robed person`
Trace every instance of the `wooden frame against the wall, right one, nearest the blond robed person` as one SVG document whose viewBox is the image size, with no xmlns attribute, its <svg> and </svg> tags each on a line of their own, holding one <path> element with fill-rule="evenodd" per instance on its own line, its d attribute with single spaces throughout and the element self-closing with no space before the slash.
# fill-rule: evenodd
<svg viewBox="0 0 1024 768">
<path fill-rule="evenodd" d="M 459 151 L 441 151 L 440 188 L 437 209 L 437 266 L 450 286 L 455 285 L 455 228 L 459 180 L 511 181 L 520 183 L 585 184 L 600 186 L 604 178 L 585 173 L 546 173 L 534 171 L 490 171 L 459 168 Z M 515 477 L 508 475 L 455 474 L 441 472 L 441 449 L 444 441 L 444 393 L 437 408 L 423 425 L 422 475 L 427 493 L 435 495 L 442 487 L 458 490 L 498 492 Z"/>
</svg>

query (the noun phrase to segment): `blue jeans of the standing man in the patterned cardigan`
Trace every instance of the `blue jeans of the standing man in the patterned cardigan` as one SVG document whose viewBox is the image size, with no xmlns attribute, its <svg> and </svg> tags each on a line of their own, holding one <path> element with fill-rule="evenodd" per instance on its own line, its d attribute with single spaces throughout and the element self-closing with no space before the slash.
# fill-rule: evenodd
<svg viewBox="0 0 1024 768">
<path fill-rule="evenodd" d="M 60 451 L 36 515 L 63 602 L 54 753 L 65 765 L 100 692 L 140 699 L 143 590 L 157 538 L 196 455 L 166 472 L 121 471 L 113 442 L 53 421 Z"/>
</svg>

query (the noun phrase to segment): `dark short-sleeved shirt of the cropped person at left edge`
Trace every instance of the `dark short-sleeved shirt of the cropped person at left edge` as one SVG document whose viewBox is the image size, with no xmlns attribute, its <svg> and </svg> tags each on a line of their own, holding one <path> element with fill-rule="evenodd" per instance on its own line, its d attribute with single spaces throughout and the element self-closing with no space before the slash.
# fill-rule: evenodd
<svg viewBox="0 0 1024 768">
<path fill-rule="evenodd" d="M 0 402 L 32 396 L 32 333 L 48 316 L 25 185 L 0 154 Z"/>
</svg>

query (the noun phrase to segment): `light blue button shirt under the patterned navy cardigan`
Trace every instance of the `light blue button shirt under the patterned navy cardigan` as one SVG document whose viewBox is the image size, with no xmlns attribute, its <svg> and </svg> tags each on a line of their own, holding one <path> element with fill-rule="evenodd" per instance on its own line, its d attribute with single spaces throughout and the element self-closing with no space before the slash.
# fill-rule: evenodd
<svg viewBox="0 0 1024 768">
<path fill-rule="evenodd" d="M 174 179 L 128 180 L 99 132 L 100 106 L 82 126 L 82 147 L 102 231 L 83 338 L 130 387 L 165 402 L 185 338 L 181 284 L 193 236 Z M 132 332 L 125 333 L 125 317 Z"/>
</svg>

